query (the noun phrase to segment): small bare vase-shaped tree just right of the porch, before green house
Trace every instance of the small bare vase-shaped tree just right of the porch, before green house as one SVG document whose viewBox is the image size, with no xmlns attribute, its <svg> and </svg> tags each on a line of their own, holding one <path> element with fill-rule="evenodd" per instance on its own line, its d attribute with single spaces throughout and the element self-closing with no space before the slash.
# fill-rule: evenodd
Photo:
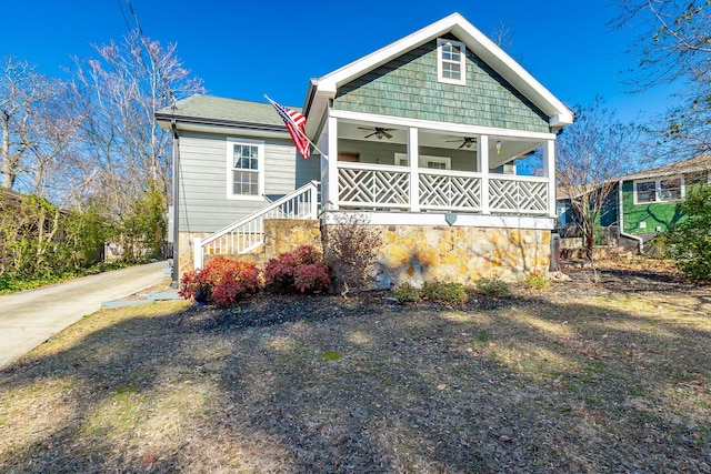
<svg viewBox="0 0 711 474">
<path fill-rule="evenodd" d="M 592 262 L 595 228 L 615 189 L 615 178 L 633 169 L 639 132 L 620 123 L 600 97 L 574 110 L 575 122 L 555 141 L 557 174 L 559 189 L 570 200 L 581 228 L 585 256 Z"/>
</svg>

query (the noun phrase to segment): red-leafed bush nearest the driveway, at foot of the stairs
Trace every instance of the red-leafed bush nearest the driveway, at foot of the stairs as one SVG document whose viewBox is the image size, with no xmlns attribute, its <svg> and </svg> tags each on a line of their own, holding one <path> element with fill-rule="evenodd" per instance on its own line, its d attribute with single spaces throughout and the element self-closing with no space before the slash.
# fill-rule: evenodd
<svg viewBox="0 0 711 474">
<path fill-rule="evenodd" d="M 262 275 L 256 263 L 216 256 L 204 269 L 184 273 L 179 294 L 186 300 L 214 303 L 229 307 L 262 286 Z"/>
</svg>

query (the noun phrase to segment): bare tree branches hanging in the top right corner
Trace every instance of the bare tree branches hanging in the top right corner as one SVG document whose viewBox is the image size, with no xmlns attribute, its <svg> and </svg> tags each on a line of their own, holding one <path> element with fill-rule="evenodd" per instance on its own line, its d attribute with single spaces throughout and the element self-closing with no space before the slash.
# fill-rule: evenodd
<svg viewBox="0 0 711 474">
<path fill-rule="evenodd" d="M 711 0 L 618 0 L 613 26 L 637 33 L 630 53 L 637 58 L 631 80 L 638 90 L 677 82 L 681 105 L 661 125 L 651 125 L 660 145 L 674 154 L 711 150 Z M 681 145 L 681 147 L 680 147 Z M 677 157 L 681 158 L 681 157 Z"/>
</svg>

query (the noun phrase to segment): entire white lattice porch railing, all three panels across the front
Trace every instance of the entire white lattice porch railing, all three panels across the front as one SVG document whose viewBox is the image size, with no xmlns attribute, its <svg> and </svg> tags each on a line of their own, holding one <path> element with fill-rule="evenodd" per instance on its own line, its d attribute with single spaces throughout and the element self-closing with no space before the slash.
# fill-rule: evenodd
<svg viewBox="0 0 711 474">
<path fill-rule="evenodd" d="M 547 178 L 493 173 L 484 177 L 467 171 L 420 169 L 417 203 L 410 202 L 410 183 L 409 168 L 338 163 L 338 205 L 344 209 L 549 214 Z M 483 195 L 488 200 L 484 201 Z"/>
</svg>

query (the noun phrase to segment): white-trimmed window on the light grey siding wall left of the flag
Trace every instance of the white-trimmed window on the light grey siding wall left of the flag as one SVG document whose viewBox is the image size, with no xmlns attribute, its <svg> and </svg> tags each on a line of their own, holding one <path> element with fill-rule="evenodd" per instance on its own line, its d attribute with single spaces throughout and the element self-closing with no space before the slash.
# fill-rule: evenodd
<svg viewBox="0 0 711 474">
<path fill-rule="evenodd" d="M 264 142 L 227 140 L 228 199 L 261 199 L 264 193 Z"/>
</svg>

